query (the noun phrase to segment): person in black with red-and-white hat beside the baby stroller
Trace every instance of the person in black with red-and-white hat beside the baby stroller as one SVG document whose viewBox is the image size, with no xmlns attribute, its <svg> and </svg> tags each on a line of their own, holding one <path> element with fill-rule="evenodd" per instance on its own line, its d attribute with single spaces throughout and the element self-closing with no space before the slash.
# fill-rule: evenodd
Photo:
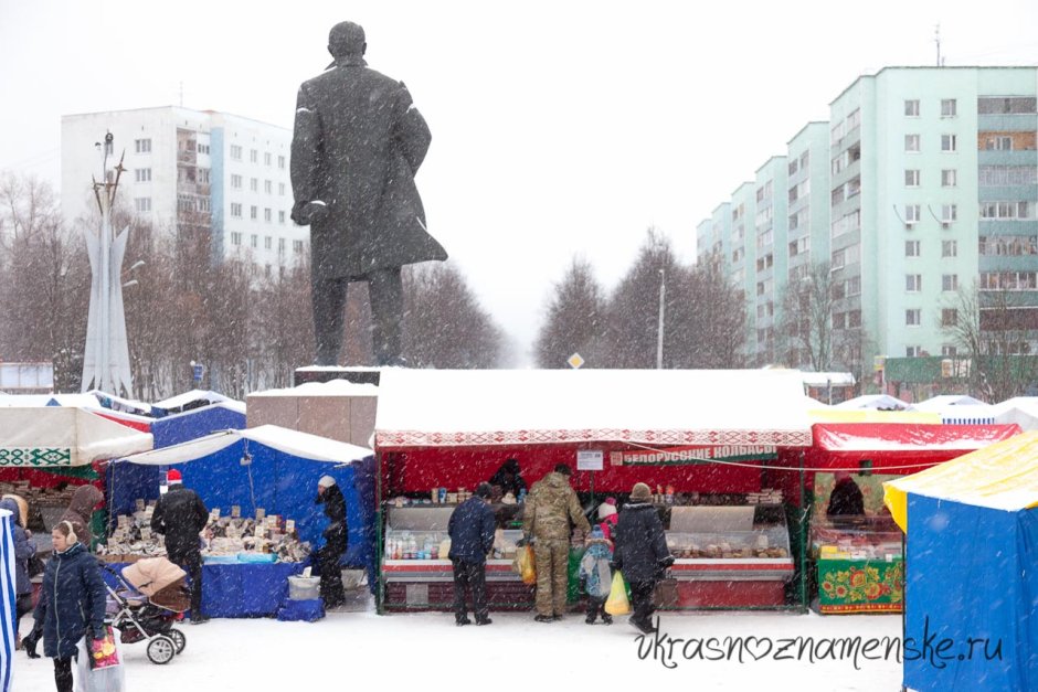
<svg viewBox="0 0 1038 692">
<path fill-rule="evenodd" d="M 180 471 L 166 475 L 169 491 L 151 514 L 151 530 L 166 536 L 166 554 L 191 577 L 191 624 L 209 620 L 202 613 L 202 551 L 199 534 L 209 523 L 209 510 L 197 492 L 181 485 Z"/>
</svg>

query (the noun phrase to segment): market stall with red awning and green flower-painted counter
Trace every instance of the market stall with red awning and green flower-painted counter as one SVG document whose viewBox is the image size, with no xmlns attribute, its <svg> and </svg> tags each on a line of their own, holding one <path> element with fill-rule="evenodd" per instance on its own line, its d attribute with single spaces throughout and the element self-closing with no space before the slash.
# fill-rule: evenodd
<svg viewBox="0 0 1038 692">
<path fill-rule="evenodd" d="M 812 513 L 811 554 L 819 611 L 900 613 L 900 535 L 882 511 L 882 482 L 1018 433 L 1015 425 L 814 425 L 814 444 L 805 455 L 805 466 L 812 469 L 805 500 Z M 862 498 L 862 515 L 826 515 L 834 475 L 840 470 L 852 473 Z"/>
</svg>

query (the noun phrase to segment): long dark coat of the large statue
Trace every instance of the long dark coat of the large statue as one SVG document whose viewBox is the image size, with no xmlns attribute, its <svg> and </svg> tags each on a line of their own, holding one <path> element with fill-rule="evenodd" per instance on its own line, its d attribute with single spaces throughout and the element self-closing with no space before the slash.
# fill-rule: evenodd
<svg viewBox="0 0 1038 692">
<path fill-rule="evenodd" d="M 360 278 L 447 253 L 425 231 L 414 174 L 432 135 L 402 82 L 341 56 L 299 87 L 292 138 L 296 209 L 319 200 L 310 223 L 316 280 Z M 300 221 L 293 211 L 293 219 Z M 305 220 L 303 220 L 305 221 Z"/>
</svg>

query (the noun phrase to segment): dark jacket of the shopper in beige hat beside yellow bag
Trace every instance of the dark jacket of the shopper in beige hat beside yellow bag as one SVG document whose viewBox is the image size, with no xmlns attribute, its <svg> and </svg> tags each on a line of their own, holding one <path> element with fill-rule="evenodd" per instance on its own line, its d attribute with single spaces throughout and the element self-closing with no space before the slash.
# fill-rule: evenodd
<svg viewBox="0 0 1038 692">
<path fill-rule="evenodd" d="M 656 508 L 628 503 L 613 530 L 613 564 L 628 582 L 655 582 L 674 563 Z"/>
</svg>

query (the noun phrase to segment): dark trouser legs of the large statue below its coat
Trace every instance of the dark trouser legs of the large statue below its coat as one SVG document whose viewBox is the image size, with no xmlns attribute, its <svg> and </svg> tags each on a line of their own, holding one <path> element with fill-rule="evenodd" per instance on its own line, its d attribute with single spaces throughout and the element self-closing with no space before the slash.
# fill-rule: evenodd
<svg viewBox="0 0 1038 692">
<path fill-rule="evenodd" d="M 313 269 L 311 269 L 313 270 Z M 400 326 L 404 289 L 400 267 L 379 269 L 362 277 L 317 279 L 310 284 L 317 364 L 338 365 L 346 320 L 346 289 L 351 281 L 368 281 L 371 302 L 371 348 L 377 365 L 395 365 L 400 359 Z"/>
</svg>

